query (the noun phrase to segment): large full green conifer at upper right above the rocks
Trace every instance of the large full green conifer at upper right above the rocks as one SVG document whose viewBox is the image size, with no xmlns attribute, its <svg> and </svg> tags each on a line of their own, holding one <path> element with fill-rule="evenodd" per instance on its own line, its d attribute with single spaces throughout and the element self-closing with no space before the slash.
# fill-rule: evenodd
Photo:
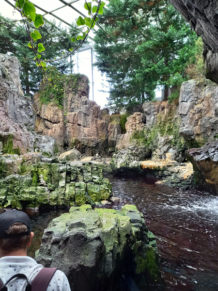
<svg viewBox="0 0 218 291">
<path fill-rule="evenodd" d="M 197 36 L 168 0 L 110 0 L 99 22 L 115 38 L 98 30 L 94 47 L 111 110 L 153 100 L 156 86 L 168 89 L 176 73 L 184 78 Z"/>
</svg>

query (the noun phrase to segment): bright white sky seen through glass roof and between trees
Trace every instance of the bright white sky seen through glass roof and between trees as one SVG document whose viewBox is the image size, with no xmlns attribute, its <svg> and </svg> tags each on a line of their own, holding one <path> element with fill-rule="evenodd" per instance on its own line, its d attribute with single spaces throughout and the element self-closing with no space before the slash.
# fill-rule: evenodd
<svg viewBox="0 0 218 291">
<path fill-rule="evenodd" d="M 41 14 L 47 20 L 61 22 L 62 27 L 71 27 L 79 16 L 89 17 L 88 11 L 84 8 L 85 0 L 31 0 L 35 5 L 36 13 Z M 95 0 L 98 3 L 97 0 Z M 107 2 L 107 1 L 105 1 Z M 16 0 L 0 0 L 0 13 L 4 17 L 14 20 L 21 20 L 19 11 L 15 8 Z M 97 27 L 95 26 L 97 29 Z M 89 44 L 83 45 L 73 56 L 74 72 L 85 74 L 90 79 L 90 98 L 95 100 L 102 107 L 106 103 L 106 94 L 99 93 L 102 89 L 102 76 L 93 63 L 95 54 L 93 52 L 94 33 L 89 33 Z"/>
</svg>

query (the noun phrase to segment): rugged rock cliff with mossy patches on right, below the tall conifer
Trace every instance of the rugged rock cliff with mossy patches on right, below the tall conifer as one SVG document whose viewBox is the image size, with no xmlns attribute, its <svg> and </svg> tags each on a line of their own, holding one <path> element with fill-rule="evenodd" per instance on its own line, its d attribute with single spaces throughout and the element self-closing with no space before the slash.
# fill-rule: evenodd
<svg viewBox="0 0 218 291">
<path fill-rule="evenodd" d="M 118 136 L 115 172 L 139 170 L 140 161 L 168 152 L 184 162 L 187 148 L 218 140 L 218 86 L 209 80 L 184 82 L 178 103 L 145 102 L 143 112 L 128 117 L 126 133 Z"/>
</svg>

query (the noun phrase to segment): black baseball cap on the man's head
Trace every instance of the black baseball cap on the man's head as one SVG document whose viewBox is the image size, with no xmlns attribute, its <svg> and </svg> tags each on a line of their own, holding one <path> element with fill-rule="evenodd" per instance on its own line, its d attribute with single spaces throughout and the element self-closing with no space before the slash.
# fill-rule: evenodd
<svg viewBox="0 0 218 291">
<path fill-rule="evenodd" d="M 16 235 L 8 235 L 6 231 L 14 223 L 23 223 L 27 226 L 26 232 L 17 233 Z M 19 237 L 23 235 L 29 235 L 31 233 L 31 221 L 29 216 L 18 210 L 9 210 L 0 214 L 0 239 L 7 239 L 10 237 Z"/>
</svg>

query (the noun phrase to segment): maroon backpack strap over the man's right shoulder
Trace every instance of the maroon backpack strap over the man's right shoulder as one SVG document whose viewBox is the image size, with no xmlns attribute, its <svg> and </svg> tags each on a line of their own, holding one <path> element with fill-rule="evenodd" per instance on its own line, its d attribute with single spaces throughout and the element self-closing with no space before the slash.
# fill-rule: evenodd
<svg viewBox="0 0 218 291">
<path fill-rule="evenodd" d="M 46 291 L 51 278 L 55 274 L 57 268 L 43 268 L 33 279 L 31 291 Z"/>
</svg>

